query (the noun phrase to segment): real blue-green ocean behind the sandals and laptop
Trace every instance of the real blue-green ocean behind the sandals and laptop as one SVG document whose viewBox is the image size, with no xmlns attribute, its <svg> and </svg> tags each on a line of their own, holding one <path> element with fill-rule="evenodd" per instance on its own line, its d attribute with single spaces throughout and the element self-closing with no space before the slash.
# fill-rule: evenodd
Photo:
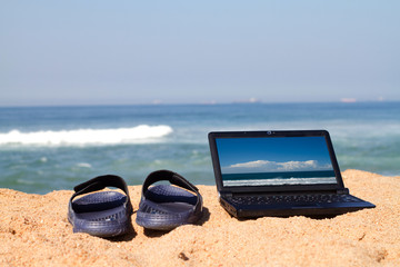
<svg viewBox="0 0 400 267">
<path fill-rule="evenodd" d="M 47 194 L 170 169 L 214 185 L 208 132 L 326 129 L 341 170 L 400 175 L 400 102 L 0 108 L 0 187 Z"/>
</svg>

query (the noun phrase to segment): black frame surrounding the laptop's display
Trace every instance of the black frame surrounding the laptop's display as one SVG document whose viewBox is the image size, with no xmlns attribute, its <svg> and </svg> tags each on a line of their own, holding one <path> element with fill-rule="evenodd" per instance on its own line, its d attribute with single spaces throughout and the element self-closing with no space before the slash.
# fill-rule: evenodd
<svg viewBox="0 0 400 267">
<path fill-rule="evenodd" d="M 217 139 L 219 138 L 284 138 L 284 137 L 324 137 L 329 157 L 336 175 L 337 184 L 314 185 L 270 185 L 270 186 L 223 186 L 221 166 L 218 157 Z M 208 135 L 217 189 L 220 192 L 256 192 L 256 191 L 304 191 L 338 190 L 344 188 L 333 146 L 327 130 L 291 130 L 291 131 L 212 131 Z"/>
</svg>

